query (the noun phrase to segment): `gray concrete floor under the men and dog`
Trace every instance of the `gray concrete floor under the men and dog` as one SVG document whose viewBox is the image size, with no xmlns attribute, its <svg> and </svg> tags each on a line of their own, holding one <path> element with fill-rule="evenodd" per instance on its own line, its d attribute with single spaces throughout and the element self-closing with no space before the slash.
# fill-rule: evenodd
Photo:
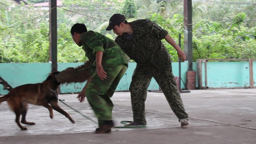
<svg viewBox="0 0 256 144">
<path fill-rule="evenodd" d="M 64 102 L 97 121 L 87 101 L 77 94 L 60 94 Z M 164 94 L 148 92 L 147 128 L 113 128 L 111 134 L 94 134 L 97 124 L 59 102 L 75 120 L 30 105 L 27 121 L 36 125 L 22 131 L 6 102 L 0 105 L 0 144 L 256 144 L 256 89 L 190 90 L 181 94 L 190 127 L 182 129 Z M 130 92 L 116 92 L 113 118 L 116 126 L 132 120 Z"/>
</svg>

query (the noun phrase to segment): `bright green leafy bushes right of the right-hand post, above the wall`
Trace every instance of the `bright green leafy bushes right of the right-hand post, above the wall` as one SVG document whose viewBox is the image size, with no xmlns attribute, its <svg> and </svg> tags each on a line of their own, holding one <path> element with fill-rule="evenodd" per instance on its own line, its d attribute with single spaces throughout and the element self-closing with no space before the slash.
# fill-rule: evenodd
<svg viewBox="0 0 256 144">
<path fill-rule="evenodd" d="M 201 20 L 193 30 L 193 59 L 255 58 L 255 27 L 247 28 L 245 14 L 239 13 L 231 22 Z"/>
</svg>

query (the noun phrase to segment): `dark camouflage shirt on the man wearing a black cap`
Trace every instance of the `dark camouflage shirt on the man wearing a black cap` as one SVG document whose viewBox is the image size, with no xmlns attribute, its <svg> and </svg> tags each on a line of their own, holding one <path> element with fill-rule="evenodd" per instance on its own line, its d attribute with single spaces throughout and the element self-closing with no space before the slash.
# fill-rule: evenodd
<svg viewBox="0 0 256 144">
<path fill-rule="evenodd" d="M 122 50 L 138 66 L 149 65 L 156 68 L 170 66 L 169 52 L 161 42 L 168 32 L 148 19 L 135 20 L 129 24 L 133 29 L 132 36 L 124 33 L 115 40 Z"/>
</svg>

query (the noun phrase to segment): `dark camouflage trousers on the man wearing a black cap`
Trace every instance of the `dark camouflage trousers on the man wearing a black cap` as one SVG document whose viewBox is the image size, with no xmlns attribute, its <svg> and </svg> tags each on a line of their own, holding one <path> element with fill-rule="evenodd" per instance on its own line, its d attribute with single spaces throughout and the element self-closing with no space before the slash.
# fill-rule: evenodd
<svg viewBox="0 0 256 144">
<path fill-rule="evenodd" d="M 188 120 L 188 114 L 185 112 L 180 91 L 172 74 L 172 66 L 168 66 L 165 70 L 158 70 L 153 66 L 137 66 L 129 88 L 134 122 L 146 125 L 145 101 L 152 77 L 159 84 L 168 104 L 178 119 Z"/>
</svg>

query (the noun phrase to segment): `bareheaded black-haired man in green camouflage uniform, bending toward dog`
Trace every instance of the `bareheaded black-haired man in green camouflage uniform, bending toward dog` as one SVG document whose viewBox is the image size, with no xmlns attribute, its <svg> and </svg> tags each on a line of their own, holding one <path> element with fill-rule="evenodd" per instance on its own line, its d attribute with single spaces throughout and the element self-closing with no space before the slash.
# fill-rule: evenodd
<svg viewBox="0 0 256 144">
<path fill-rule="evenodd" d="M 113 96 L 128 67 L 124 51 L 110 38 L 94 31 L 87 31 L 84 24 L 74 24 L 70 30 L 74 42 L 86 52 L 91 62 L 91 73 L 86 86 L 79 93 L 80 102 L 86 96 L 96 114 L 99 127 L 96 133 L 111 132 Z"/>
</svg>

